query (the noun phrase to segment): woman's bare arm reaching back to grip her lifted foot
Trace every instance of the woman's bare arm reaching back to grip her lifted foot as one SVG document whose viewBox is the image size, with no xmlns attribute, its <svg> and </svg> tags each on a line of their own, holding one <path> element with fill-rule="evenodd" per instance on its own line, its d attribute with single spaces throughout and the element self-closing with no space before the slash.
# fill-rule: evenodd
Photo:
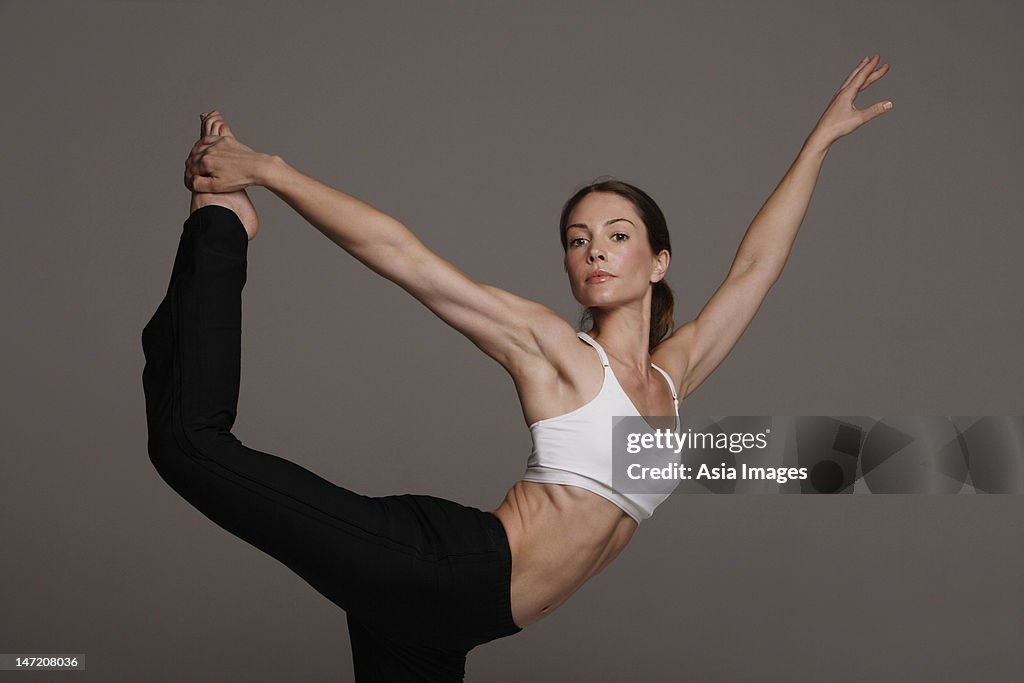
<svg viewBox="0 0 1024 683">
<path fill-rule="evenodd" d="M 214 116 L 219 114 L 214 113 Z M 307 176 L 281 157 L 256 153 L 230 129 L 201 139 L 186 162 L 185 184 L 225 193 L 262 185 L 329 240 L 416 297 L 513 376 L 542 353 L 539 337 L 568 324 L 554 311 L 478 284 L 443 260 L 397 219 Z"/>
</svg>

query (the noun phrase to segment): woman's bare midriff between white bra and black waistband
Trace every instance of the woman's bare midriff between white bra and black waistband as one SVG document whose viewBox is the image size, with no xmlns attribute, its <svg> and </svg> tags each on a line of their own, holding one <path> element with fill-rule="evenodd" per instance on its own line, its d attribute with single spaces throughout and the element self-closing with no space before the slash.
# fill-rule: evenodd
<svg viewBox="0 0 1024 683">
<path fill-rule="evenodd" d="M 519 481 L 492 511 L 512 550 L 512 618 L 535 624 L 613 560 L 637 523 L 586 488 Z"/>
</svg>

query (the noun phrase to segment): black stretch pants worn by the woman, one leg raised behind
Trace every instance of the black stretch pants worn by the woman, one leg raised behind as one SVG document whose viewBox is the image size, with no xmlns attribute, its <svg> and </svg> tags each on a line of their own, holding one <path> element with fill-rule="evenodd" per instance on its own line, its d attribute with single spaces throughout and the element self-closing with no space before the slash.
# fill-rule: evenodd
<svg viewBox="0 0 1024 683">
<path fill-rule="evenodd" d="M 432 496 L 360 496 L 231 434 L 248 244 L 222 207 L 185 221 L 142 331 L 150 459 L 203 514 L 347 612 L 356 680 L 461 681 L 471 648 L 520 631 L 505 529 Z"/>
</svg>

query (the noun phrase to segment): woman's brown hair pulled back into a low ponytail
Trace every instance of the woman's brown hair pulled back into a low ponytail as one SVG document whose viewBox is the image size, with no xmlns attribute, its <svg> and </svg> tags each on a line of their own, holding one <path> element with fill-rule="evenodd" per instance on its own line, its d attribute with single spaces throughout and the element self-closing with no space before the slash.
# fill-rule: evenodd
<svg viewBox="0 0 1024 683">
<path fill-rule="evenodd" d="M 569 198 L 565 206 L 562 207 L 562 216 L 558 221 L 558 232 L 562 240 L 562 251 L 568 251 L 568 241 L 566 239 L 568 230 L 566 229 L 566 225 L 569 221 L 569 214 L 572 213 L 572 209 L 575 208 L 580 201 L 591 193 L 613 193 L 629 200 L 636 208 L 637 214 L 639 214 L 640 219 L 647 228 L 647 241 L 650 243 L 651 253 L 657 254 L 664 249 L 670 255 L 672 254 L 672 245 L 669 241 L 669 225 L 665 220 L 665 214 L 662 213 L 662 209 L 658 208 L 657 204 L 654 203 L 654 200 L 647 193 L 628 182 L 613 178 L 606 180 L 598 179 L 589 185 L 581 187 Z M 657 346 L 663 339 L 669 336 L 673 327 L 675 327 L 672 317 L 673 308 L 675 307 L 675 297 L 672 295 L 672 289 L 665 282 L 664 278 L 651 287 L 650 341 L 648 350 Z M 583 328 L 588 323 L 593 323 L 593 311 L 590 308 L 585 309 L 583 317 L 580 318 L 580 327 Z"/>
</svg>

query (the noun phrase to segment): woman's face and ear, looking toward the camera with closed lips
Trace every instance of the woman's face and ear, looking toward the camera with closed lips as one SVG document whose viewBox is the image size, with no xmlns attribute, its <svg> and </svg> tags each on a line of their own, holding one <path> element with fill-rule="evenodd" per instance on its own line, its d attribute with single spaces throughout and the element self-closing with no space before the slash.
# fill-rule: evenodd
<svg viewBox="0 0 1024 683">
<path fill-rule="evenodd" d="M 633 203 L 614 193 L 584 197 L 569 214 L 565 242 L 572 296 L 588 308 L 642 300 L 669 266 L 668 251 L 651 254 Z"/>
</svg>

